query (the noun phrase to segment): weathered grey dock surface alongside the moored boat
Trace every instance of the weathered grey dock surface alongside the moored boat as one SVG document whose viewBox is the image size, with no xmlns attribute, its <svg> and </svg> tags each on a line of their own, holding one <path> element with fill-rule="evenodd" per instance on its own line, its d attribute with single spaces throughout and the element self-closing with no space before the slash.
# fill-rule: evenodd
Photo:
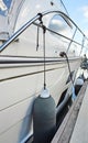
<svg viewBox="0 0 88 143">
<path fill-rule="evenodd" d="M 88 81 L 85 81 L 51 143 L 88 143 L 87 85 Z"/>
</svg>

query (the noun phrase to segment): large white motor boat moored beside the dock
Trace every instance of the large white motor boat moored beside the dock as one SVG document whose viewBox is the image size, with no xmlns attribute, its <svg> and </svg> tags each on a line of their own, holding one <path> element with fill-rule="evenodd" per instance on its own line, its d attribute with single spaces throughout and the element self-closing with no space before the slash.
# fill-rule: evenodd
<svg viewBox="0 0 88 143">
<path fill-rule="evenodd" d="M 44 70 L 56 108 L 65 105 L 87 41 L 61 0 L 0 1 L 0 143 L 24 143 L 33 134 Z"/>
</svg>

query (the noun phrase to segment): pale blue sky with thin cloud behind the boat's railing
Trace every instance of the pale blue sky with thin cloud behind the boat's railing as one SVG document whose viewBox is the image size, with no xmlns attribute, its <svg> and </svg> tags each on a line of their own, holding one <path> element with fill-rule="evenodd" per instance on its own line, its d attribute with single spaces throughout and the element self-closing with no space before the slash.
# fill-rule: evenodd
<svg viewBox="0 0 88 143">
<path fill-rule="evenodd" d="M 63 0 L 70 18 L 88 35 L 88 0 Z"/>
</svg>

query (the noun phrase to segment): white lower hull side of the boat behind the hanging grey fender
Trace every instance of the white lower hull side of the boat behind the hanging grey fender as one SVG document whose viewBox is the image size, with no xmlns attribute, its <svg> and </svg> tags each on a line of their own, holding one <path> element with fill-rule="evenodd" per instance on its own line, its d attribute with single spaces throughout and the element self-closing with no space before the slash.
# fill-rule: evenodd
<svg viewBox="0 0 88 143">
<path fill-rule="evenodd" d="M 6 56 L 1 56 L 1 62 L 3 64 L 0 64 L 0 142 L 21 142 L 29 131 L 33 132 L 32 105 L 43 88 L 43 63 Z M 80 59 L 77 58 L 70 61 L 72 72 L 79 63 Z M 66 84 L 68 75 L 67 62 L 64 59 L 46 64 L 46 85 L 56 105 L 62 92 L 72 84 Z"/>
</svg>

